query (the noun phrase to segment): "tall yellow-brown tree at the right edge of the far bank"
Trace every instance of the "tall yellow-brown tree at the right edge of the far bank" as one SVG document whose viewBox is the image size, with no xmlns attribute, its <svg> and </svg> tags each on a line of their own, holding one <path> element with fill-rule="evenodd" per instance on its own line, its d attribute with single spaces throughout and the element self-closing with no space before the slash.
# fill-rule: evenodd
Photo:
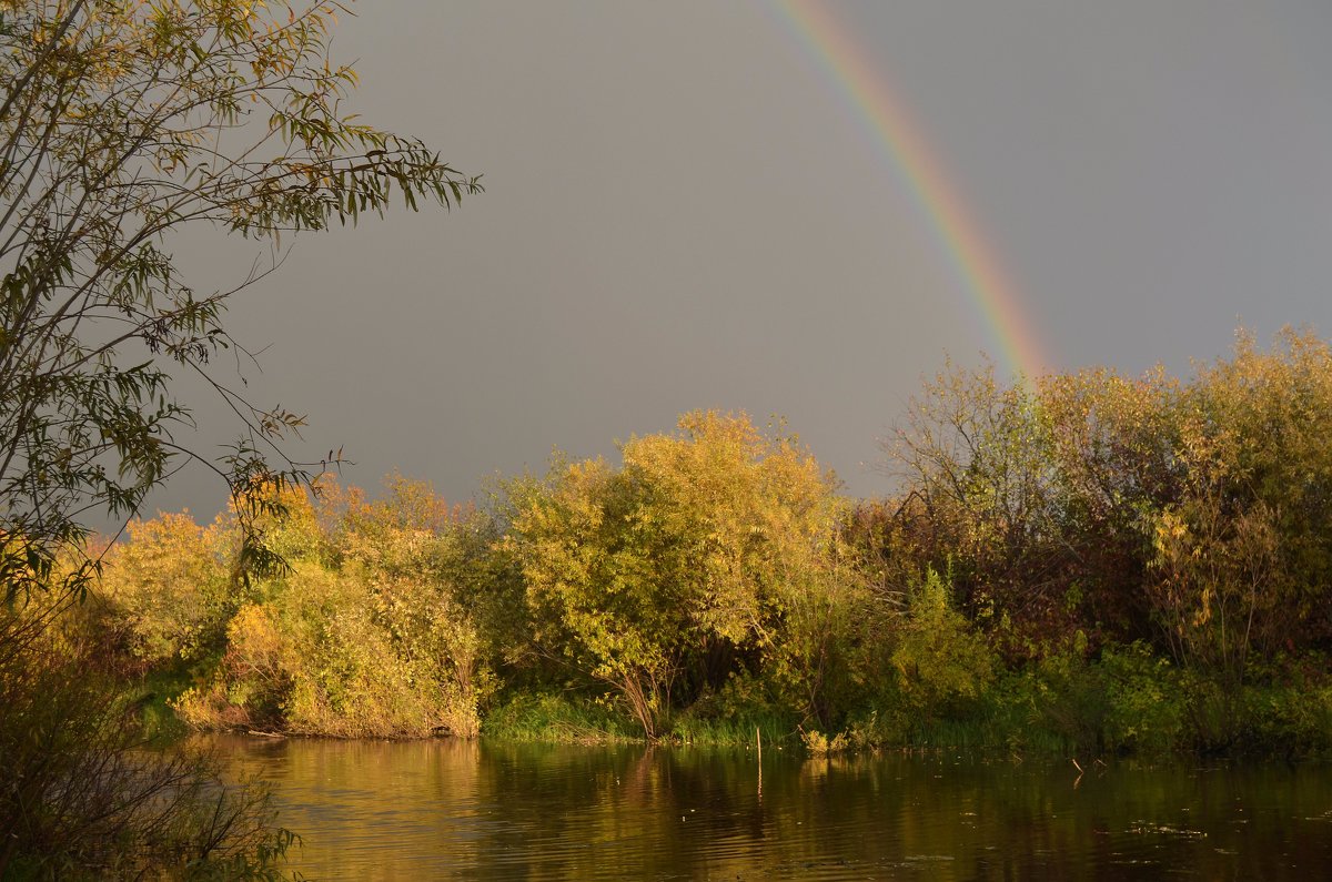
<svg viewBox="0 0 1332 882">
<path fill-rule="evenodd" d="M 1151 513 L 1158 622 L 1176 658 L 1243 679 L 1248 656 L 1328 640 L 1332 346 L 1240 333 L 1175 409 L 1179 492 Z"/>
</svg>

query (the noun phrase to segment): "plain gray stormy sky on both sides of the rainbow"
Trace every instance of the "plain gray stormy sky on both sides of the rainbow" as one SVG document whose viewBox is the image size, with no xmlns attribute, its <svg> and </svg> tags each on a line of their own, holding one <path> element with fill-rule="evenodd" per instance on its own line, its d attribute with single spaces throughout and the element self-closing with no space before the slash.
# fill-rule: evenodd
<svg viewBox="0 0 1332 882">
<path fill-rule="evenodd" d="M 1332 333 L 1332 4 L 832 3 L 1058 369 Z M 694 408 L 785 414 L 858 496 L 944 353 L 992 348 L 891 157 L 775 7 L 364 3 L 354 105 L 488 192 L 298 240 L 249 389 L 450 500 Z M 253 245 L 192 237 L 197 288 Z M 208 416 L 208 408 L 200 408 Z M 205 424 L 206 424 L 205 418 Z M 206 445 L 209 441 L 204 440 Z M 153 498 L 212 513 L 201 470 Z"/>
</svg>

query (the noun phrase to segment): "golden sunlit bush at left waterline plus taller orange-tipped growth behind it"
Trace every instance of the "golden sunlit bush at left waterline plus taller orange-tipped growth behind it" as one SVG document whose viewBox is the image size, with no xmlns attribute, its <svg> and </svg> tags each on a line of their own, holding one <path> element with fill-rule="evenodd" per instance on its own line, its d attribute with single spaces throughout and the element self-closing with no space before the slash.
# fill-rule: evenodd
<svg viewBox="0 0 1332 882">
<path fill-rule="evenodd" d="M 400 481 L 376 504 L 325 489 L 332 518 L 305 497 L 286 500 L 290 520 L 270 537 L 288 569 L 252 586 L 216 671 L 178 699 L 181 717 L 342 737 L 476 735 L 494 678 L 454 597 L 458 522 L 418 485 Z"/>
</svg>

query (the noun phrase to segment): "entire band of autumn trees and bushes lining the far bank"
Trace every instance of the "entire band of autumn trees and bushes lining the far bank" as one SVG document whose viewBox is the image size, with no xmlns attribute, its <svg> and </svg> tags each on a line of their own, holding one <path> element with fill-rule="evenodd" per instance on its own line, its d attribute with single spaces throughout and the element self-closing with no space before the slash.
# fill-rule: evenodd
<svg viewBox="0 0 1332 882">
<path fill-rule="evenodd" d="M 289 570 L 136 524 L 121 653 L 197 726 L 1083 751 L 1328 746 L 1332 350 L 1288 332 L 1187 381 L 947 368 L 851 504 L 779 429 L 693 413 L 482 508 L 394 480 L 289 494 Z"/>
</svg>

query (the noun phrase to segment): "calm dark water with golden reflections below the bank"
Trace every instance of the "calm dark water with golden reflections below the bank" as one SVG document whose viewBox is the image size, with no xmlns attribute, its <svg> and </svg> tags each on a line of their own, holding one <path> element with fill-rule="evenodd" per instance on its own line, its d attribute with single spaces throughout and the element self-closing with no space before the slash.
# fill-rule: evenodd
<svg viewBox="0 0 1332 882">
<path fill-rule="evenodd" d="M 218 737 L 318 879 L 1323 879 L 1332 766 Z"/>
</svg>

